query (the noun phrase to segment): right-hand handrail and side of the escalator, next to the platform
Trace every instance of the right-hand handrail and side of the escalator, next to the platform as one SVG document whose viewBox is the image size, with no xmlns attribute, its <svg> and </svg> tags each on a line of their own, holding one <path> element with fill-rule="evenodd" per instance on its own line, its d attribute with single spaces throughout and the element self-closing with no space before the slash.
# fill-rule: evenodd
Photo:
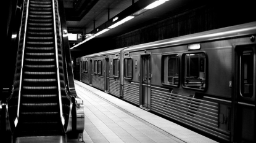
<svg viewBox="0 0 256 143">
<path fill-rule="evenodd" d="M 60 0 L 59 0 L 60 1 Z M 78 98 L 75 91 L 75 82 L 73 79 L 72 63 L 70 56 L 70 49 L 68 44 L 67 25 L 65 20 L 64 6 L 63 2 L 59 4 L 56 0 L 57 15 L 59 20 L 59 32 L 60 32 L 60 50 L 62 50 L 62 62 L 64 69 L 64 82 L 66 84 L 66 91 L 68 98 L 70 99 L 70 115 L 68 117 L 68 125 L 65 132 L 72 133 L 83 133 L 85 125 L 85 113 L 83 100 Z M 67 120 L 67 119 L 66 119 Z"/>
</svg>

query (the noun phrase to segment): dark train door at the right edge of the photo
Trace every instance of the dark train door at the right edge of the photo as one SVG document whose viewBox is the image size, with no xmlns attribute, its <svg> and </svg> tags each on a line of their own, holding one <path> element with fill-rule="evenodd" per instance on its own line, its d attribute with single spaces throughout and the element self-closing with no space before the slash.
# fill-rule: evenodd
<svg viewBox="0 0 256 143">
<path fill-rule="evenodd" d="M 234 142 L 256 142 L 256 45 L 238 45 L 235 51 Z"/>
</svg>

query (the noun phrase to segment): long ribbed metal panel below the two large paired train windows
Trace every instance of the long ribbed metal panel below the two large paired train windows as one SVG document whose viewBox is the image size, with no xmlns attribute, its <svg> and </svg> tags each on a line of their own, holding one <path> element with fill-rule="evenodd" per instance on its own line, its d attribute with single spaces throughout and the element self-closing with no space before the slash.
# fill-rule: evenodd
<svg viewBox="0 0 256 143">
<path fill-rule="evenodd" d="M 151 110 L 179 122 L 207 131 L 215 136 L 228 139 L 229 133 L 218 129 L 217 102 L 182 95 L 165 88 L 151 89 Z"/>
</svg>

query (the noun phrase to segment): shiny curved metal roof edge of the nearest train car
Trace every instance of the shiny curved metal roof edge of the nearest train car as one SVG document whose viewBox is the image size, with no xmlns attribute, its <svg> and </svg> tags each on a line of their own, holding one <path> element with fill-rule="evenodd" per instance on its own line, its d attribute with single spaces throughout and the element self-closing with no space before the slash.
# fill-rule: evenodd
<svg viewBox="0 0 256 143">
<path fill-rule="evenodd" d="M 155 41 L 155 42 L 149 42 L 146 44 L 134 45 L 132 47 L 125 48 L 123 51 L 133 52 L 133 51 L 139 51 L 139 50 L 149 50 L 149 49 L 160 48 L 160 47 L 170 47 L 174 45 L 191 44 L 195 42 L 215 41 L 218 39 L 225 39 L 225 38 L 237 37 L 237 36 L 246 36 L 246 35 L 255 34 L 255 33 L 256 33 L 256 21 L 242 24 L 242 25 L 229 26 L 226 28 L 213 29 L 210 31 L 202 32 L 202 33 L 189 34 L 186 36 L 165 39 L 162 41 Z"/>
</svg>

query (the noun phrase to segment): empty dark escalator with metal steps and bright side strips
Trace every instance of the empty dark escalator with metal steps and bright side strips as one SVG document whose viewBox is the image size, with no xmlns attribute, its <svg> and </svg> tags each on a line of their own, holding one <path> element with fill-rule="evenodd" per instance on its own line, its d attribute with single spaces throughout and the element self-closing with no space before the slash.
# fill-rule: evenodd
<svg viewBox="0 0 256 143">
<path fill-rule="evenodd" d="M 14 85 L 5 105 L 6 132 L 13 141 L 38 136 L 81 141 L 83 102 L 68 83 L 73 75 L 65 70 L 70 53 L 62 46 L 58 1 L 25 0 L 21 23 Z"/>
</svg>

